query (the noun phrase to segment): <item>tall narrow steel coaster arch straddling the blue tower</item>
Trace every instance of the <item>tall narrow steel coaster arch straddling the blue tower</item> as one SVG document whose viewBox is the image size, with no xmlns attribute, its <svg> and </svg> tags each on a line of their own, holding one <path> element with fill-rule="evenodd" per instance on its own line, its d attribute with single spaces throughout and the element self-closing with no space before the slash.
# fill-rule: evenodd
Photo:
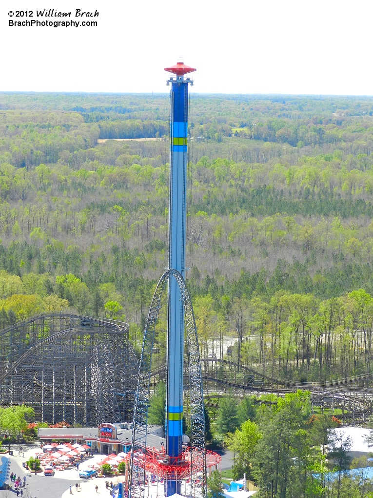
<svg viewBox="0 0 373 498">
<path fill-rule="evenodd" d="M 184 378 L 186 379 L 185 388 L 189 392 L 190 451 L 183 454 L 183 465 L 169 465 L 166 462 L 160 464 L 162 455 L 159 455 L 147 446 L 147 423 L 154 337 L 162 295 L 170 278 L 175 278 L 180 287 L 186 325 L 187 351 L 185 355 L 186 374 Z M 137 385 L 130 458 L 129 497 L 144 498 L 147 472 L 162 477 L 164 473 L 164 477 L 166 478 L 170 478 L 171 475 L 177 475 L 178 479 L 187 479 L 189 477 L 190 496 L 194 498 L 206 497 L 206 456 L 208 456 L 207 460 L 210 467 L 218 464 L 220 456 L 216 455 L 218 458 L 216 460 L 214 457 L 215 454 L 212 454 L 212 452 L 207 452 L 208 455 L 206 455 L 203 389 L 197 331 L 186 283 L 181 273 L 175 269 L 165 271 L 154 292 L 144 331 Z M 179 463 L 182 464 L 182 462 Z M 162 472 L 160 471 L 160 466 L 162 467 Z M 201 475 L 198 477 L 199 473 Z"/>
</svg>

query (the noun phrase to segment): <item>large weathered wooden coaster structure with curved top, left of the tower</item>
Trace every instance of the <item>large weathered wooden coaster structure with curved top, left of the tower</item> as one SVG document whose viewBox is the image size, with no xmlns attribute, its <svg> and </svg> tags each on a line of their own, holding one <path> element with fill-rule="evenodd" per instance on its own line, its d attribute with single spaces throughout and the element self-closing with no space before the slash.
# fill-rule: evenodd
<svg viewBox="0 0 373 498">
<path fill-rule="evenodd" d="M 129 421 L 137 371 L 126 323 L 49 313 L 0 331 L 0 406 L 32 406 L 37 420 Z"/>
</svg>

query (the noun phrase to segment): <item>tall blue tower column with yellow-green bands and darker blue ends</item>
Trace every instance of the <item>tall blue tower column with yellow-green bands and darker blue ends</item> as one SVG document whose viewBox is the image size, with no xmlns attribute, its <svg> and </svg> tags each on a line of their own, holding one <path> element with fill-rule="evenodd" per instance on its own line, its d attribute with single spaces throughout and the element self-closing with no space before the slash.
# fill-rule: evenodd
<svg viewBox="0 0 373 498">
<path fill-rule="evenodd" d="M 169 199 L 169 268 L 184 274 L 187 224 L 188 83 L 184 76 L 171 78 L 171 148 Z M 167 331 L 166 453 L 176 464 L 183 448 L 184 309 L 175 278 L 169 282 Z M 181 492 L 176 479 L 165 483 L 166 496 Z"/>
</svg>

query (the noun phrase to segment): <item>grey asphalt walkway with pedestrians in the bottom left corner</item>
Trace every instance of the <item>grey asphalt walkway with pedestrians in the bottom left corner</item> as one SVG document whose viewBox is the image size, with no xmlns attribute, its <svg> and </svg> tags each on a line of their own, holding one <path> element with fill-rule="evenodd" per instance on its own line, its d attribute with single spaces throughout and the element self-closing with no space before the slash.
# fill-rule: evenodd
<svg viewBox="0 0 373 498">
<path fill-rule="evenodd" d="M 26 469 L 18 465 L 18 462 L 10 459 L 10 474 L 13 472 L 18 476 L 21 476 L 23 482 L 23 476 L 26 476 L 26 490 L 23 493 L 23 497 L 32 498 L 61 498 L 62 494 L 69 489 L 69 486 L 75 487 L 76 481 L 70 481 L 67 479 L 49 478 L 42 475 L 35 476 L 35 474 L 30 474 Z M 10 481 L 6 481 L 10 484 Z M 14 488 L 14 485 L 12 484 Z M 12 489 L 0 490 L 0 498 L 13 498 L 17 494 Z"/>
</svg>

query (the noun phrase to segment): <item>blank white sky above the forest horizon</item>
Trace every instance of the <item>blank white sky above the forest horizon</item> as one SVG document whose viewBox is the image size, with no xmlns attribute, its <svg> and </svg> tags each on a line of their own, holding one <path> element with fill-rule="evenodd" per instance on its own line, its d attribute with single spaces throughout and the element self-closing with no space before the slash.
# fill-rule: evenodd
<svg viewBox="0 0 373 498">
<path fill-rule="evenodd" d="M 8 26 L 44 8 L 98 26 Z M 360 0 L 2 0 L 0 91 L 167 92 L 183 55 L 198 93 L 373 95 L 372 14 Z"/>
</svg>

